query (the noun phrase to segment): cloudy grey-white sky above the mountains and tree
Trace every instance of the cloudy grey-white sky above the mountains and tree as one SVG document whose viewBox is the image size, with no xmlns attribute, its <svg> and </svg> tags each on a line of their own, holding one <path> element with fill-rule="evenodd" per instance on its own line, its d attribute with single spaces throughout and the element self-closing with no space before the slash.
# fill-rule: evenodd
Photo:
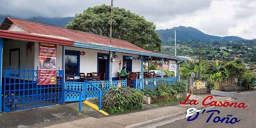
<svg viewBox="0 0 256 128">
<path fill-rule="evenodd" d="M 111 0 L 0 0 L 0 14 L 31 17 L 68 17 Z M 114 0 L 153 21 L 157 29 L 194 27 L 215 36 L 256 38 L 256 0 Z"/>
</svg>

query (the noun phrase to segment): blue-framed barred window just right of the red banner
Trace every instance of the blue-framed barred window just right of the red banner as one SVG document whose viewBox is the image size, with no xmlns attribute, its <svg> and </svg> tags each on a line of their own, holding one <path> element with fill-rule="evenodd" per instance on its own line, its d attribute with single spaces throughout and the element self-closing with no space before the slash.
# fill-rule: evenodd
<svg viewBox="0 0 256 128">
<path fill-rule="evenodd" d="M 75 74 L 80 73 L 80 51 L 65 50 L 65 73 Z"/>
</svg>

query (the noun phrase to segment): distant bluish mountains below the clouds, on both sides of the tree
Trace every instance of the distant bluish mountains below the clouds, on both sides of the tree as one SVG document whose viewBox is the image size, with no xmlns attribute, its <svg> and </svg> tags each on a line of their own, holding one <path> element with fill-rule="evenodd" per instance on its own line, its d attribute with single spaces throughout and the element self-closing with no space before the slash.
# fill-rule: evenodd
<svg viewBox="0 0 256 128">
<path fill-rule="evenodd" d="M 0 23 L 4 21 L 6 17 L 13 17 L 10 15 L 0 15 Z M 33 17 L 33 18 L 20 18 L 20 17 L 13 17 L 23 20 L 29 20 L 44 24 L 49 24 L 53 26 L 59 26 L 65 28 L 66 24 L 68 24 L 69 21 L 72 21 L 74 17 L 53 17 L 53 18 L 46 18 L 46 17 Z M 160 29 L 156 30 L 156 32 L 159 34 L 159 37 L 162 39 L 162 43 L 166 44 L 168 42 L 172 42 L 174 39 L 174 30 L 176 30 L 176 38 L 177 41 L 244 41 L 246 39 L 243 39 L 238 36 L 212 36 L 205 34 L 201 32 L 200 30 L 192 27 L 185 27 L 185 26 L 179 26 L 179 27 L 173 27 L 171 29 Z M 169 40 L 168 38 L 172 38 Z M 253 39 L 252 41 L 256 41 L 256 39 Z"/>
</svg>

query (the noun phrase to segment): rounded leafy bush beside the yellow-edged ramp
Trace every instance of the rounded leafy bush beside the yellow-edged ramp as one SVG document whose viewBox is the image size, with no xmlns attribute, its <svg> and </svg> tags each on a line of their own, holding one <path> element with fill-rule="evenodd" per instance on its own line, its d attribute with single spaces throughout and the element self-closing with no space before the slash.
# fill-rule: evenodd
<svg viewBox="0 0 256 128">
<path fill-rule="evenodd" d="M 123 113 L 142 108 L 143 92 L 130 87 L 112 87 L 102 97 L 102 109 L 113 113 Z"/>
</svg>

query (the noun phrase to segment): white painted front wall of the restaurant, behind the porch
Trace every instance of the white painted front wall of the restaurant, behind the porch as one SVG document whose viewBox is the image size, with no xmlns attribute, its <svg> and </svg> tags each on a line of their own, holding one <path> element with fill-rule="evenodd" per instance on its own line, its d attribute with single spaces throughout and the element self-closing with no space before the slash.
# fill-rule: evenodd
<svg viewBox="0 0 256 128">
<path fill-rule="evenodd" d="M 25 41 L 18 41 L 18 40 L 9 40 L 4 42 L 4 50 L 3 50 L 3 70 L 9 69 L 9 52 L 10 49 L 20 48 L 20 66 L 25 66 L 30 69 L 38 66 L 38 42 L 35 42 L 34 46 L 32 46 L 31 54 L 28 54 L 28 61 L 26 59 L 26 43 Z M 94 50 L 94 49 L 86 49 L 86 48 L 79 48 L 79 47 L 71 47 L 66 46 L 66 50 L 76 50 L 76 51 L 84 51 L 85 55 L 80 56 L 80 72 L 88 73 L 88 72 L 97 72 L 97 53 L 109 53 L 108 51 L 103 50 Z M 122 61 L 123 66 L 123 56 L 132 56 L 132 57 L 139 57 L 138 55 L 134 54 L 127 54 L 127 53 L 120 53 L 116 52 L 118 58 L 115 59 L 112 65 L 112 77 L 117 77 L 117 72 L 120 72 L 118 61 Z M 16 64 L 18 67 L 18 64 Z M 62 69 L 62 46 L 57 45 L 57 69 L 60 67 Z M 132 60 L 132 71 L 133 72 L 140 72 L 141 69 L 141 60 Z M 79 77 L 76 77 L 79 79 Z"/>
</svg>

